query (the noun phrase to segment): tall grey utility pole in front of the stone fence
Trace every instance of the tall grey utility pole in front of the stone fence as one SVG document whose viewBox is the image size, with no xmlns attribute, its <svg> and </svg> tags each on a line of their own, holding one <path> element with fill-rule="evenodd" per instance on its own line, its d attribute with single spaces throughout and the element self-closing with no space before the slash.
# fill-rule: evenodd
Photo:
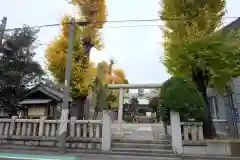
<svg viewBox="0 0 240 160">
<path fill-rule="evenodd" d="M 69 115 L 69 92 L 70 92 L 70 81 L 71 81 L 71 70 L 72 70 L 72 56 L 73 56 L 73 43 L 74 43 L 74 19 L 70 22 L 69 40 L 68 40 L 68 52 L 66 59 L 65 68 L 65 82 L 64 82 L 64 95 L 62 104 L 61 124 L 59 129 L 59 149 L 61 153 L 65 151 L 66 136 L 67 136 L 67 124 Z"/>
</svg>

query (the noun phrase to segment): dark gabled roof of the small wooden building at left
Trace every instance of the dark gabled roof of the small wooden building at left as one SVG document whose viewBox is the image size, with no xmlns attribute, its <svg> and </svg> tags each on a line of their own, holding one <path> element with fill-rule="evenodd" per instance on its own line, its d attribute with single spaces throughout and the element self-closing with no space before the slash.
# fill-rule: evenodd
<svg viewBox="0 0 240 160">
<path fill-rule="evenodd" d="M 38 84 L 37 86 L 31 88 L 26 94 L 24 94 L 23 98 L 37 91 L 41 91 L 42 93 L 58 101 L 63 100 L 63 91 L 55 88 L 54 86 L 49 86 L 45 84 Z M 72 98 L 70 98 L 69 101 L 72 101 Z"/>
</svg>

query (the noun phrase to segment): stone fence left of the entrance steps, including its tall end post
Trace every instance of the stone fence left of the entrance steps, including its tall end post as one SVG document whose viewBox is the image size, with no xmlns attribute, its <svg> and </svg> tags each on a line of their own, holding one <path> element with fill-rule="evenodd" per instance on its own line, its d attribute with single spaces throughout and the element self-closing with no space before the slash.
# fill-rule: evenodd
<svg viewBox="0 0 240 160">
<path fill-rule="evenodd" d="M 32 146 L 59 146 L 60 120 L 0 119 L 0 143 Z M 111 120 L 108 113 L 102 120 L 68 121 L 66 147 L 109 150 L 111 147 Z"/>
</svg>

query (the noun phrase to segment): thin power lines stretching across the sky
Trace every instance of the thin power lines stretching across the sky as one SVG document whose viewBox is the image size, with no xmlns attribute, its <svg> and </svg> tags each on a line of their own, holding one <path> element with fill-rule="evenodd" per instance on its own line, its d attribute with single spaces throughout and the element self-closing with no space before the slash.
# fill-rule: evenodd
<svg viewBox="0 0 240 160">
<path fill-rule="evenodd" d="M 240 17 L 223 17 L 223 19 L 237 19 Z M 214 18 L 213 18 L 214 19 Z M 157 22 L 157 21 L 163 21 L 163 20 L 188 20 L 186 18 L 160 18 L 160 19 L 135 19 L 135 20 L 118 20 L 118 21 L 97 21 L 97 22 L 92 22 L 92 23 L 129 23 L 129 22 Z M 76 24 L 79 23 L 85 23 L 85 25 L 89 24 L 90 22 L 87 21 L 78 21 L 75 22 Z M 65 23 L 65 24 L 70 24 L 70 23 Z M 54 27 L 54 26 L 60 26 L 62 25 L 61 23 L 56 23 L 56 24 L 45 24 L 45 25 L 38 25 L 38 26 L 32 26 L 32 27 L 17 27 L 17 28 L 9 28 L 5 29 L 5 31 L 13 31 L 17 29 L 24 29 L 24 28 L 35 28 L 35 29 L 40 29 L 40 28 L 45 28 L 45 27 Z M 135 25 L 137 26 L 154 26 L 154 25 Z M 163 25 L 155 25 L 155 26 L 163 26 Z M 114 27 L 104 27 L 104 28 L 121 28 L 121 27 L 132 27 L 132 26 L 114 26 Z"/>
</svg>

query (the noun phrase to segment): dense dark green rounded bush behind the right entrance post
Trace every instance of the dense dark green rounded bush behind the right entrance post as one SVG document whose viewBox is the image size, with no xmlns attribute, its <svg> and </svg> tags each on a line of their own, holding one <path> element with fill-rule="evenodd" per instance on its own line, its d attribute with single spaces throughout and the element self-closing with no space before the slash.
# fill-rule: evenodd
<svg viewBox="0 0 240 160">
<path fill-rule="evenodd" d="M 164 82 L 160 97 L 155 99 L 154 106 L 158 107 L 157 110 L 165 124 L 170 123 L 171 110 L 179 112 L 182 121 L 202 121 L 206 118 L 206 105 L 195 84 L 178 77 Z"/>
</svg>

